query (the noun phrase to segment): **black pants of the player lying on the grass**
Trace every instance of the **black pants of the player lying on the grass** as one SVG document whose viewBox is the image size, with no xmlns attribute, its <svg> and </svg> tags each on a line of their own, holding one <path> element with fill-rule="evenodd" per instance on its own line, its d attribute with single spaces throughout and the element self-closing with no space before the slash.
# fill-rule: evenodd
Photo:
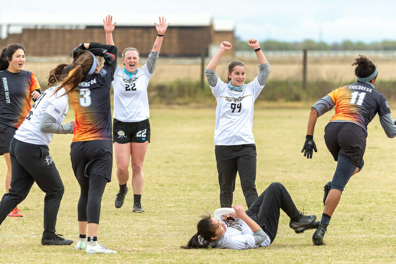
<svg viewBox="0 0 396 264">
<path fill-rule="evenodd" d="M 246 211 L 271 239 L 271 243 L 278 232 L 280 209 L 294 221 L 299 221 L 300 212 L 297 210 L 289 192 L 279 182 L 271 183 L 267 189 L 254 201 Z"/>
</svg>

